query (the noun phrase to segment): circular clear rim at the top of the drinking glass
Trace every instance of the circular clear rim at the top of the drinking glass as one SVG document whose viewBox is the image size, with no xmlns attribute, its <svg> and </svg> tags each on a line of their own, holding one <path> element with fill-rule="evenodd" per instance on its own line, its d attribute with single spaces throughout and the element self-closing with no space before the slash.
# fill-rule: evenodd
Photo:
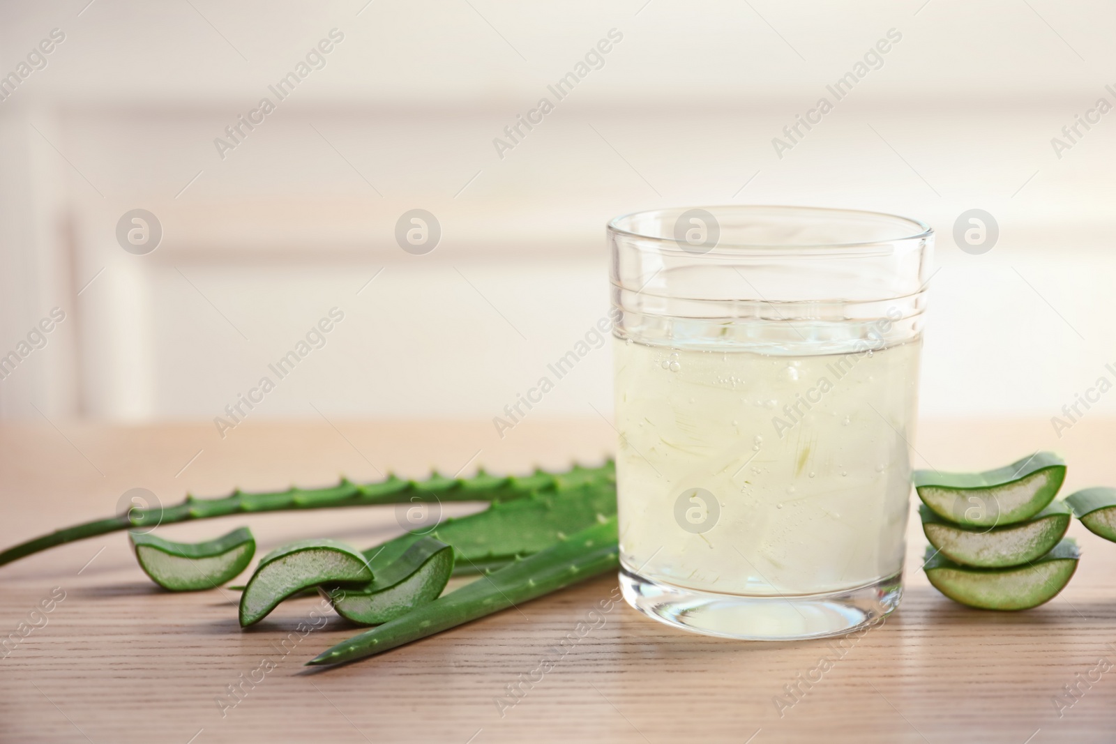
<svg viewBox="0 0 1116 744">
<path fill-rule="evenodd" d="M 643 215 L 658 215 L 675 210 L 687 211 L 687 210 L 705 210 L 718 215 L 718 211 L 721 212 L 750 212 L 750 211 L 770 211 L 770 212 L 805 212 L 811 213 L 817 216 L 831 215 L 836 216 L 839 214 L 844 215 L 858 215 L 863 218 L 883 218 L 888 221 L 896 223 L 905 223 L 911 225 L 914 230 L 908 235 L 902 235 L 898 238 L 889 238 L 885 240 L 867 240 L 867 241 L 852 241 L 852 242 L 833 242 L 833 243 L 797 243 L 797 244 L 778 244 L 778 243 L 725 243 L 720 240 L 714 247 L 712 247 L 708 252 L 703 252 L 705 255 L 709 254 L 728 254 L 730 251 L 723 249 L 731 249 L 732 253 L 735 254 L 759 254 L 770 251 L 778 251 L 781 254 L 787 254 L 788 252 L 801 252 L 810 251 L 817 252 L 824 255 L 863 255 L 865 251 L 863 249 L 883 248 L 891 247 L 896 243 L 906 243 L 911 241 L 920 241 L 930 238 L 934 234 L 934 229 L 922 220 L 915 220 L 914 218 L 903 216 L 901 214 L 891 214 L 887 212 L 875 212 L 872 210 L 849 210 L 840 207 L 828 207 L 828 206 L 801 206 L 795 204 L 719 204 L 719 205 L 701 205 L 701 206 L 664 206 L 654 210 L 639 210 L 637 212 L 628 212 L 619 216 L 613 218 L 608 221 L 606 229 L 610 234 L 619 234 L 628 238 L 634 238 L 639 241 L 648 241 L 652 243 L 660 243 L 664 248 L 668 245 L 674 245 L 677 250 L 685 251 L 684 248 L 679 245 L 679 241 L 672 236 L 664 235 L 650 235 L 643 232 L 637 232 L 635 230 L 629 230 L 626 226 L 620 226 L 623 223 L 631 223 L 635 218 Z M 860 249 L 860 250 L 856 250 Z M 870 251 L 868 251 L 870 252 Z"/>
</svg>

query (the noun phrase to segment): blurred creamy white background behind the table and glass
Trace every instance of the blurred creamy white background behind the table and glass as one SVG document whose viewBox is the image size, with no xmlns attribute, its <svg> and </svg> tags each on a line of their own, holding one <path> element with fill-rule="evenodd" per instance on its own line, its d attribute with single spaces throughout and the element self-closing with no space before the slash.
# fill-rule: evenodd
<svg viewBox="0 0 1116 744">
<path fill-rule="evenodd" d="M 1116 104 L 1107 2 L 74 0 L 0 19 L 0 75 L 65 35 L 0 88 L 0 355 L 66 313 L 0 380 L 3 418 L 212 421 L 336 307 L 250 418 L 489 419 L 606 312 L 609 218 L 729 202 L 935 228 L 925 416 L 1050 417 L 1116 379 L 1116 113 L 1051 145 Z M 268 86 L 331 29 L 279 100 Z M 778 157 L 889 29 L 882 66 Z M 263 97 L 222 158 L 214 138 Z M 133 209 L 162 224 L 154 252 L 117 243 Z M 394 238 L 412 209 L 441 223 L 425 255 Z M 953 241 L 970 209 L 999 223 L 987 253 Z M 610 366 L 594 351 L 532 415 L 607 415 Z"/>
</svg>

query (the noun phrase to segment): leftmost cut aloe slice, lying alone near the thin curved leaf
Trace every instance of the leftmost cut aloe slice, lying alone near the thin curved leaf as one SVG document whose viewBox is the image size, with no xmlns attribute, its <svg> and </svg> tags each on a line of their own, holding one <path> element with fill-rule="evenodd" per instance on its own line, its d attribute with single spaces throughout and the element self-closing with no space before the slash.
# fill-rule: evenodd
<svg viewBox="0 0 1116 744">
<path fill-rule="evenodd" d="M 215 589 L 243 571 L 256 554 L 248 528 L 205 542 L 172 542 L 154 534 L 129 532 L 140 568 L 171 591 Z"/>
</svg>

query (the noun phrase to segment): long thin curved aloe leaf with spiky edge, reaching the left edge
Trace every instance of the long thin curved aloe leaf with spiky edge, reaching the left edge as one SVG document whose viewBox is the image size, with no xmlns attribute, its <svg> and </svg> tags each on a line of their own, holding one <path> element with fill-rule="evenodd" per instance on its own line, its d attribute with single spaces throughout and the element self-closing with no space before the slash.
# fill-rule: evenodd
<svg viewBox="0 0 1116 744">
<path fill-rule="evenodd" d="M 440 501 L 503 502 L 536 492 L 564 491 L 597 482 L 615 484 L 615 481 L 616 468 L 608 461 L 599 467 L 575 465 L 564 473 L 537 470 L 527 476 L 499 476 L 481 471 L 469 479 L 448 479 L 435 473 L 425 481 L 410 481 L 391 475 L 384 481 L 365 484 L 341 479 L 337 485 L 325 489 L 290 487 L 261 493 L 246 493 L 238 489 L 228 496 L 217 499 L 186 495 L 185 501 L 173 506 L 133 509 L 125 514 L 84 522 L 12 545 L 0 552 L 0 566 L 56 545 L 150 524 L 173 524 L 249 512 L 408 503 L 416 495 L 429 495 Z"/>
</svg>

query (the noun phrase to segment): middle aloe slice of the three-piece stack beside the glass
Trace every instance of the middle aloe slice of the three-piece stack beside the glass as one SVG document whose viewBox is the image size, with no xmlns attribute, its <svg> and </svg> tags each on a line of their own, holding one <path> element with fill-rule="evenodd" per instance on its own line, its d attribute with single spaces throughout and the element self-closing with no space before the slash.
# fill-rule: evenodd
<svg viewBox="0 0 1116 744">
<path fill-rule="evenodd" d="M 977 568 L 1008 568 L 1045 555 L 1069 529 L 1070 511 L 1061 501 L 1051 502 L 1026 522 L 998 528 L 962 526 L 943 520 L 920 505 L 922 531 L 930 544 L 950 560 Z"/>
</svg>

